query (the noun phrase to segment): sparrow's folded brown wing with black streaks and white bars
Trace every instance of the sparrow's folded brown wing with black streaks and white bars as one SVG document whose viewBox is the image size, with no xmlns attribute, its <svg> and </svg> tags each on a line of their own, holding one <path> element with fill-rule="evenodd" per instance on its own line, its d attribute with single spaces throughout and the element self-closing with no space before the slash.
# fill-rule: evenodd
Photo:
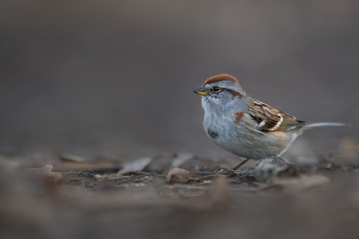
<svg viewBox="0 0 359 239">
<path fill-rule="evenodd" d="M 286 131 L 298 128 L 304 121 L 297 120 L 294 116 L 288 115 L 260 101 L 254 100 L 252 110 L 247 113 L 258 123 L 259 130 L 263 133 Z"/>
</svg>

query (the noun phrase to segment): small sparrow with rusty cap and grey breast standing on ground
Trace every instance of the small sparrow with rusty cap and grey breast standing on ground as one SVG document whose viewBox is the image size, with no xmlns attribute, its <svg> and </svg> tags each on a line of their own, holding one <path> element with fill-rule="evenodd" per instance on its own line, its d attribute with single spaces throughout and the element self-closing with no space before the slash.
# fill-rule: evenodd
<svg viewBox="0 0 359 239">
<path fill-rule="evenodd" d="M 297 120 L 252 99 L 237 79 L 227 74 L 208 78 L 193 92 L 202 96 L 203 126 L 208 137 L 219 147 L 246 158 L 243 163 L 265 158 L 285 163 L 279 156 L 304 130 L 350 126 Z"/>
</svg>

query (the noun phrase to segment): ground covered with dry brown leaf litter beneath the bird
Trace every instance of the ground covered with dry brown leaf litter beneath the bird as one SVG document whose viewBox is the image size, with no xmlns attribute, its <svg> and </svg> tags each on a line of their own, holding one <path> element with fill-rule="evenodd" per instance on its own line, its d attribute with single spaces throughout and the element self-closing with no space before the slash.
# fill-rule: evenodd
<svg viewBox="0 0 359 239">
<path fill-rule="evenodd" d="M 46 238 L 46 233 L 41 236 L 46 225 L 64 226 L 70 215 L 77 228 L 66 224 L 70 231 L 99 228 L 106 235 L 105 224 L 111 228 L 108 232 L 119 225 L 124 236 L 135 238 L 218 238 L 236 235 L 239 229 L 244 237 L 262 238 L 268 231 L 287 235 L 290 230 L 282 226 L 299 230 L 308 222 L 323 235 L 317 238 L 326 238 L 344 228 L 344 234 L 355 234 L 359 221 L 359 167 L 352 159 L 348 163 L 326 157 L 318 163 L 287 165 L 267 160 L 238 168 L 240 159 L 193 153 L 111 162 L 62 155 L 54 166 L 25 170 L 11 162 L 21 162 L 21 157 L 0 159 L 0 222 L 25 231 L 35 225 L 37 238 Z M 158 223 L 164 229 L 153 233 Z M 57 233 L 59 238 L 67 235 Z M 307 233 L 291 237 L 310 238 Z"/>
</svg>

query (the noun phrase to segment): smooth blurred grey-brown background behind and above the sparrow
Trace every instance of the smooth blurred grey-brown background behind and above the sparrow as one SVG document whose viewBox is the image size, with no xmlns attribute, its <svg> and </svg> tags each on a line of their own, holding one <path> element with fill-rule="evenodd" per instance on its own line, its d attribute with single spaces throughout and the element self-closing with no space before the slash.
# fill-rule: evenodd
<svg viewBox="0 0 359 239">
<path fill-rule="evenodd" d="M 207 138 L 200 96 L 230 74 L 313 130 L 290 154 L 335 151 L 359 129 L 359 2 L 0 2 L 0 153 L 236 158 Z"/>
</svg>

